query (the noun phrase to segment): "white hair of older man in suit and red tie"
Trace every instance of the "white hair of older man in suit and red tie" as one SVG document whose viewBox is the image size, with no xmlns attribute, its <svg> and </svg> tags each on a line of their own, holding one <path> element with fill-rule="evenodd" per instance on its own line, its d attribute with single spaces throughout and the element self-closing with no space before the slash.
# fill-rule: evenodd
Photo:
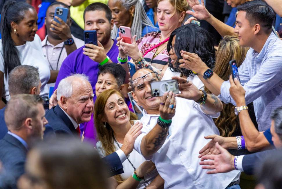
<svg viewBox="0 0 282 189">
<path fill-rule="evenodd" d="M 76 79 L 89 82 L 89 78 L 85 74 L 72 74 L 62 79 L 57 88 L 57 101 L 59 101 L 62 96 L 69 98 L 73 95 L 73 81 Z"/>
</svg>

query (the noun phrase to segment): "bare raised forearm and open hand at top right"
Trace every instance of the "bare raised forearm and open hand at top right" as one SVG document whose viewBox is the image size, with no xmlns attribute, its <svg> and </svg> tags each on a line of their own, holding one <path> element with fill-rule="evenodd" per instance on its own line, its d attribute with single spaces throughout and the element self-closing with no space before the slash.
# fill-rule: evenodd
<svg viewBox="0 0 282 189">
<path fill-rule="evenodd" d="M 201 4 L 198 0 L 188 0 L 189 6 L 195 11 L 188 10 L 186 13 L 191 14 L 193 17 L 205 20 L 211 26 L 216 29 L 216 31 L 223 37 L 225 35 L 236 35 L 234 32 L 234 28 L 228 26 L 227 24 L 223 23 L 222 21 L 216 19 L 213 15 L 209 13 L 206 9 L 204 0 L 201 0 Z"/>
</svg>

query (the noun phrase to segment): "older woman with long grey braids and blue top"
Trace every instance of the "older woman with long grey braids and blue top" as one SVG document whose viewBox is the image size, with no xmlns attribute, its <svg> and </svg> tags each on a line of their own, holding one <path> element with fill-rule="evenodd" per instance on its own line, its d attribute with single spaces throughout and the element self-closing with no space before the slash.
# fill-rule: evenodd
<svg viewBox="0 0 282 189">
<path fill-rule="evenodd" d="M 108 6 L 112 11 L 114 27 L 111 38 L 118 37 L 119 27 L 127 26 L 131 28 L 131 34 L 137 35 L 137 39 L 145 34 L 158 31 L 148 18 L 139 0 L 109 0 Z"/>
</svg>

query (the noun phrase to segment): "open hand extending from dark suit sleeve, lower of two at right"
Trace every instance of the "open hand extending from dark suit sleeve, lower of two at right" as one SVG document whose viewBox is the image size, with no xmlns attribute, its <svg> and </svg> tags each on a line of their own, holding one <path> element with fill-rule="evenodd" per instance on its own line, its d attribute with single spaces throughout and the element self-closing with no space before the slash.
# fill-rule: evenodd
<svg viewBox="0 0 282 189">
<path fill-rule="evenodd" d="M 227 150 L 221 147 L 218 142 L 216 148 L 220 151 L 218 155 L 205 155 L 203 159 L 210 159 L 211 161 L 200 161 L 200 165 L 203 169 L 212 169 L 207 171 L 207 174 L 229 172 L 235 169 L 234 167 L 234 156 L 231 155 Z"/>
</svg>

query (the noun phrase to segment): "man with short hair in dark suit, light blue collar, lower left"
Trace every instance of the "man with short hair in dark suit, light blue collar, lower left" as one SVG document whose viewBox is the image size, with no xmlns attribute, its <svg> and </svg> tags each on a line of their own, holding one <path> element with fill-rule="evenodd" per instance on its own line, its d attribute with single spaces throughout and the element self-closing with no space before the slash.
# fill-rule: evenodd
<svg viewBox="0 0 282 189">
<path fill-rule="evenodd" d="M 31 143 L 43 139 L 48 123 L 43 99 L 38 95 L 13 95 L 5 110 L 8 133 L 0 140 L 0 162 L 15 181 L 24 173 L 26 153 Z"/>
</svg>

